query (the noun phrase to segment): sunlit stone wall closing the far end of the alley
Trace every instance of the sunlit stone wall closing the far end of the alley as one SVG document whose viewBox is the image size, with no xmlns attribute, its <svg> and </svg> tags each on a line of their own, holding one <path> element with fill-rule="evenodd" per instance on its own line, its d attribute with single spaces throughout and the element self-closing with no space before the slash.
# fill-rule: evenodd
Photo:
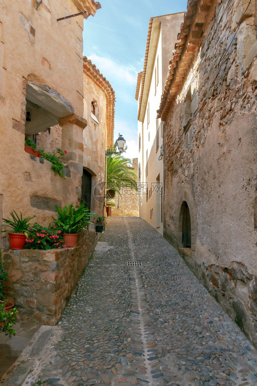
<svg viewBox="0 0 257 386">
<path fill-rule="evenodd" d="M 132 159 L 133 171 L 138 174 L 138 159 Z M 121 196 L 114 197 L 116 207 L 111 208 L 113 216 L 138 216 L 138 192 L 129 188 L 121 188 Z"/>
</svg>

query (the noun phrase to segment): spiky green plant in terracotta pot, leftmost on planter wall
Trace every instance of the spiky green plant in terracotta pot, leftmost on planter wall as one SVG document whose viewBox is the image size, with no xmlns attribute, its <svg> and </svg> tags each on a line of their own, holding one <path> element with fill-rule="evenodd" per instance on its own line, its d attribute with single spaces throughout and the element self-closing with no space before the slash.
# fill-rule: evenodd
<svg viewBox="0 0 257 386">
<path fill-rule="evenodd" d="M 12 218 L 3 218 L 3 225 L 12 230 L 2 230 L 2 232 L 9 234 L 11 249 L 22 249 L 26 238 L 28 238 L 29 230 L 32 228 L 32 224 L 29 223 L 29 221 L 36 216 L 22 218 L 21 212 L 19 217 L 17 213 L 13 211 L 11 212 L 11 217 Z"/>
</svg>

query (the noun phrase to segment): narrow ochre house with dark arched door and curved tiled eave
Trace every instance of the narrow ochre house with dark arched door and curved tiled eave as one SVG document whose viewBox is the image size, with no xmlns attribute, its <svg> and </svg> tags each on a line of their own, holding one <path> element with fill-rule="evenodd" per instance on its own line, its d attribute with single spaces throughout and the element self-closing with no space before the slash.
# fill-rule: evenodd
<svg viewBox="0 0 257 386">
<path fill-rule="evenodd" d="M 84 161 L 82 200 L 91 212 L 102 216 L 105 150 L 113 147 L 115 93 L 109 81 L 86 56 L 84 67 Z"/>
</svg>

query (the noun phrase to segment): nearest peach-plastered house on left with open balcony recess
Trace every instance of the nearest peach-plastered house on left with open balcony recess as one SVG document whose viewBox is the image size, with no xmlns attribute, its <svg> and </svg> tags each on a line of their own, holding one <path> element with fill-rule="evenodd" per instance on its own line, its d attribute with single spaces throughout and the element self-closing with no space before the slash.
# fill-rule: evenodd
<svg viewBox="0 0 257 386">
<path fill-rule="evenodd" d="M 100 7 L 94 0 L 0 2 L 0 218 L 21 210 L 46 225 L 55 205 L 81 199 L 87 126 L 82 31 L 84 17 Z M 67 151 L 66 179 L 24 151 L 25 135 L 38 135 L 46 150 L 58 145 Z"/>
</svg>

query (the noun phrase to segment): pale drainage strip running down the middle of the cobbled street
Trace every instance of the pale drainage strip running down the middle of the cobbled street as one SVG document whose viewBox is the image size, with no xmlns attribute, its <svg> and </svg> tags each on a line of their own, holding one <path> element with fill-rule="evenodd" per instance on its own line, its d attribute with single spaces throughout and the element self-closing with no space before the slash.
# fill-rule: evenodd
<svg viewBox="0 0 257 386">
<path fill-rule="evenodd" d="M 133 248 L 133 242 L 131 237 L 131 232 L 128 227 L 128 222 L 125 220 L 128 235 L 128 247 L 131 259 L 135 261 L 135 254 Z M 130 266 L 129 267 L 129 275 L 131 282 L 131 300 L 133 301 L 133 320 L 136 326 L 138 327 L 138 337 L 135 340 L 135 346 L 138 347 L 138 343 L 140 344 L 141 350 L 138 350 L 138 355 L 144 358 L 144 367 L 146 369 L 146 373 L 142 375 L 142 378 L 137 378 L 142 382 L 147 382 L 149 386 L 154 386 L 156 384 L 155 379 L 153 379 L 154 374 L 151 374 L 152 367 L 159 362 L 158 358 L 155 356 L 155 340 L 152 332 L 150 330 L 150 316 L 148 312 L 148 303 L 145 298 L 144 293 L 144 285 L 142 279 L 140 278 L 138 266 Z M 140 266 L 139 266 L 140 267 Z M 156 367 L 154 373 L 156 374 Z"/>
</svg>

